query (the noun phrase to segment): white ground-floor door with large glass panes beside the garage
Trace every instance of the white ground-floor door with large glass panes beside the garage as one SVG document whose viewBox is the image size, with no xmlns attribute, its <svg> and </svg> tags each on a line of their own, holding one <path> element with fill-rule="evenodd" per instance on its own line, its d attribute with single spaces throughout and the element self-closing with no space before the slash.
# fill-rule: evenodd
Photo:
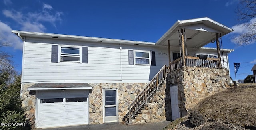
<svg viewBox="0 0 256 130">
<path fill-rule="evenodd" d="M 104 122 L 118 121 L 118 102 L 116 89 L 104 89 Z"/>
</svg>

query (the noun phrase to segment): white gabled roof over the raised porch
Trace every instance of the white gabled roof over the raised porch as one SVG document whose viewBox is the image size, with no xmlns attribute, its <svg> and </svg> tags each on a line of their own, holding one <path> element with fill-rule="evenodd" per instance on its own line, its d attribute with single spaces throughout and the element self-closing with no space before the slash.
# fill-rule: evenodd
<svg viewBox="0 0 256 130">
<path fill-rule="evenodd" d="M 178 30 L 185 29 L 186 44 L 188 48 L 200 48 L 215 39 L 216 33 L 222 36 L 233 31 L 210 18 L 196 18 L 191 20 L 178 20 L 157 42 L 156 45 L 179 46 Z"/>
</svg>

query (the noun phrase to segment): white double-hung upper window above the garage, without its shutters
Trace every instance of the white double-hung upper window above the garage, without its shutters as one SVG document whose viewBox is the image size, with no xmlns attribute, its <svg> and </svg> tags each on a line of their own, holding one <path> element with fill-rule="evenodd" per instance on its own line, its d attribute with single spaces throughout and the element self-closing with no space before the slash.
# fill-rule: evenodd
<svg viewBox="0 0 256 130">
<path fill-rule="evenodd" d="M 60 46 L 60 62 L 81 63 L 81 47 Z"/>
</svg>

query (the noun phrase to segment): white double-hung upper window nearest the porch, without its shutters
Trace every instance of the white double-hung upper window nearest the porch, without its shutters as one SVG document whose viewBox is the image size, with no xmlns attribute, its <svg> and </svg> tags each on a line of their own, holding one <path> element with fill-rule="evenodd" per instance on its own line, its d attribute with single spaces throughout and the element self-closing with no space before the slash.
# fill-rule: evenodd
<svg viewBox="0 0 256 130">
<path fill-rule="evenodd" d="M 150 65 L 150 51 L 134 51 L 136 65 Z"/>
</svg>

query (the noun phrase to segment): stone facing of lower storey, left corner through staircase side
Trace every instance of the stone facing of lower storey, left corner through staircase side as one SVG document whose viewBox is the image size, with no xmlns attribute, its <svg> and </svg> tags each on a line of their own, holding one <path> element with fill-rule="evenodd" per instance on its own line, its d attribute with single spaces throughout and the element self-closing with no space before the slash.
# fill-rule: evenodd
<svg viewBox="0 0 256 130">
<path fill-rule="evenodd" d="M 89 83 L 93 89 L 89 93 L 89 122 L 90 124 L 103 123 L 103 89 L 117 89 L 118 90 L 118 120 L 122 122 L 124 116 L 128 113 L 128 106 L 134 98 L 146 87 L 148 83 Z M 36 105 L 36 91 L 28 91 L 27 88 L 34 84 L 22 84 L 21 96 L 22 106 L 26 110 L 27 118 L 30 119 L 31 124 L 34 125 L 35 119 L 35 105 Z M 148 103 L 146 110 L 142 110 L 140 118 L 136 119 L 134 124 L 144 122 L 156 122 L 165 120 L 166 117 L 171 117 L 170 93 L 165 95 L 165 83 L 162 84 L 160 91 L 154 95 L 154 100 Z M 169 88 L 170 91 L 170 88 Z M 169 92 L 167 91 L 167 92 Z M 167 98 L 166 98 L 167 96 Z M 166 112 L 165 110 L 168 109 Z M 167 114 L 167 116 L 165 115 Z M 170 115 L 169 115 L 170 114 Z M 140 121 L 138 122 L 138 120 Z M 141 120 L 142 119 L 142 120 Z"/>
</svg>

